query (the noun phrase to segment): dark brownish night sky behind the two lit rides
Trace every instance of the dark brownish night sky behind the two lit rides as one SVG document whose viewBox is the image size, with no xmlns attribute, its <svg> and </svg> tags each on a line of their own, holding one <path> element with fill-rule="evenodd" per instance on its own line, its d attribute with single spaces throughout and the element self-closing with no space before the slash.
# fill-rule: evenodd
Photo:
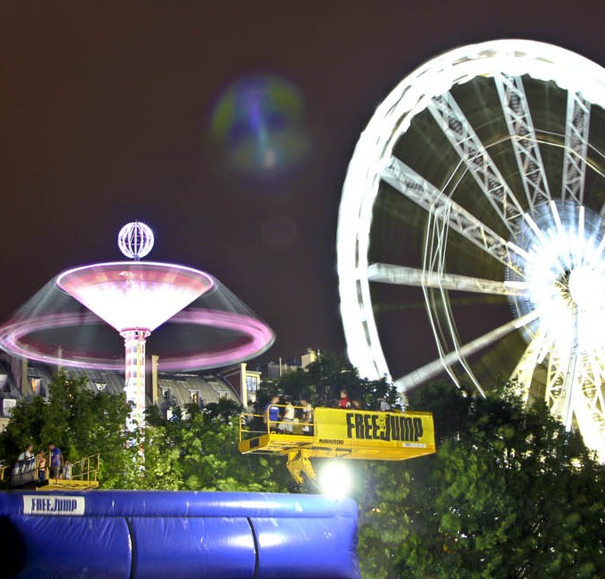
<svg viewBox="0 0 605 579">
<path fill-rule="evenodd" d="M 276 331 L 271 357 L 343 352 L 338 205 L 391 88 L 440 52 L 500 37 L 605 65 L 601 2 L 209 4 L 0 5 L 0 321 L 61 270 L 121 259 L 117 231 L 138 219 L 156 232 L 151 259 L 212 273 Z M 233 142 L 212 129 L 252 76 L 294 90 L 308 143 L 254 173 L 230 165 Z"/>
</svg>

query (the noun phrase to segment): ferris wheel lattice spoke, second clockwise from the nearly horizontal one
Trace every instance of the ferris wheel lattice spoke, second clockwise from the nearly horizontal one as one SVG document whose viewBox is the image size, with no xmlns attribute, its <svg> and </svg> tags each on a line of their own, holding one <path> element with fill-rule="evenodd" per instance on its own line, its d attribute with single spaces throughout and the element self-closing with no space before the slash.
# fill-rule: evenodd
<svg viewBox="0 0 605 579">
<path fill-rule="evenodd" d="M 452 94 L 433 97 L 427 109 L 512 235 L 524 210 Z"/>
</svg>

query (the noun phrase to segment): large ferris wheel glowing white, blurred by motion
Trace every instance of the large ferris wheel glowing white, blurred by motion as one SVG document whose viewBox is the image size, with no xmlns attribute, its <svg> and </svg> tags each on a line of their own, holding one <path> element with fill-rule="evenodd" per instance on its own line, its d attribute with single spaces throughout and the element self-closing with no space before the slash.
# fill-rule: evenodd
<svg viewBox="0 0 605 579">
<path fill-rule="evenodd" d="M 605 69 L 525 40 L 430 60 L 376 109 L 344 182 L 351 363 L 404 391 L 510 376 L 604 460 L 604 215 Z"/>
</svg>

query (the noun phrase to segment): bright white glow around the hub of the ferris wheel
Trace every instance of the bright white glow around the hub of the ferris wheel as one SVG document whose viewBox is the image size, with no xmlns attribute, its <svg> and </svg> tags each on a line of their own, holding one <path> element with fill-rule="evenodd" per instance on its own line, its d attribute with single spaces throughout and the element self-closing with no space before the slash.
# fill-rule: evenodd
<svg viewBox="0 0 605 579">
<path fill-rule="evenodd" d="M 605 341 L 605 261 L 597 248 L 605 223 L 588 208 L 572 203 L 543 205 L 538 213 L 539 234 L 520 229 L 516 241 L 528 251 L 516 265 L 527 284 L 526 295 L 510 296 L 516 311 L 536 310 L 539 327 L 550 349 L 568 358 L 577 324 L 581 355 L 603 356 Z M 510 271 L 510 277 L 518 274 Z M 531 338 L 536 329 L 529 332 Z"/>
</svg>

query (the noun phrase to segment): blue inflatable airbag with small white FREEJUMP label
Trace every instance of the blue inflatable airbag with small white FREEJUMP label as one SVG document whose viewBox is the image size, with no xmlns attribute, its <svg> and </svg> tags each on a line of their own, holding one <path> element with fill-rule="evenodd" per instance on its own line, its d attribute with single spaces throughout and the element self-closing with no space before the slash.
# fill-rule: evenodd
<svg viewBox="0 0 605 579">
<path fill-rule="evenodd" d="M 357 505 L 318 495 L 0 493 L 4 576 L 358 579 Z"/>
</svg>

